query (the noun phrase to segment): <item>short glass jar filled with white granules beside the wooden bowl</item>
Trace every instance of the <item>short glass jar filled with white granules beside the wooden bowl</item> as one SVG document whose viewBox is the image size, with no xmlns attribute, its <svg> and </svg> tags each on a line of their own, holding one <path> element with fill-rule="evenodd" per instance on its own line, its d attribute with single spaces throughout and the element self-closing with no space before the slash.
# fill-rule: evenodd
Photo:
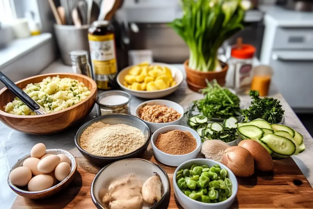
<svg viewBox="0 0 313 209">
<path fill-rule="evenodd" d="M 100 93 L 97 104 L 100 107 L 101 115 L 111 113 L 130 114 L 131 95 L 125 91 L 113 90 Z"/>
</svg>

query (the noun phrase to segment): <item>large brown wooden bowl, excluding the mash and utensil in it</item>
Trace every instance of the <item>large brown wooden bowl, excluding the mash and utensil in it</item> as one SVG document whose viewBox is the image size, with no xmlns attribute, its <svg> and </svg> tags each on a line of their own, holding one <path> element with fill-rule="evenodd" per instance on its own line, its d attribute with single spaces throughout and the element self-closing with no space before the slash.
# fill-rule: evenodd
<svg viewBox="0 0 313 209">
<path fill-rule="evenodd" d="M 97 85 L 91 78 L 80 74 L 51 73 L 33 76 L 18 81 L 15 84 L 23 89 L 29 83 L 41 82 L 44 78 L 59 75 L 60 78 L 72 78 L 83 82 L 91 91 L 90 95 L 83 101 L 68 107 L 64 110 L 52 112 L 44 115 L 13 115 L 4 112 L 4 106 L 12 102 L 14 94 L 7 88 L 0 91 L 0 120 L 2 123 L 16 131 L 30 134 L 50 134 L 64 130 L 85 118 L 95 104 L 97 96 Z"/>
</svg>

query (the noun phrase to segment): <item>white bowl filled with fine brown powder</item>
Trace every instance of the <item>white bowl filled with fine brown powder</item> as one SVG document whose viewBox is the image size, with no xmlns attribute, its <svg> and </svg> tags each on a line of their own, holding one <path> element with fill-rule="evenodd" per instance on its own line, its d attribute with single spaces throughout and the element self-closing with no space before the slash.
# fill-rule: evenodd
<svg viewBox="0 0 313 209">
<path fill-rule="evenodd" d="M 195 159 L 201 148 L 201 138 L 192 128 L 180 125 L 165 126 L 151 137 L 154 157 L 165 165 L 178 166 Z"/>
</svg>

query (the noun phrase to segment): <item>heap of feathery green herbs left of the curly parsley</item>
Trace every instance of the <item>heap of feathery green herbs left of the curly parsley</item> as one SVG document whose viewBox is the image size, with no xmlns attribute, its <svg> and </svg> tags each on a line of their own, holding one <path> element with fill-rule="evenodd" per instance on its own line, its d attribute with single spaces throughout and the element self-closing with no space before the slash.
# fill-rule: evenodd
<svg viewBox="0 0 313 209">
<path fill-rule="evenodd" d="M 192 102 L 191 111 L 198 109 L 199 112 L 208 118 L 229 118 L 240 115 L 239 97 L 228 89 L 218 85 L 216 80 L 213 84 L 201 90 L 205 96 L 203 99 Z"/>
</svg>

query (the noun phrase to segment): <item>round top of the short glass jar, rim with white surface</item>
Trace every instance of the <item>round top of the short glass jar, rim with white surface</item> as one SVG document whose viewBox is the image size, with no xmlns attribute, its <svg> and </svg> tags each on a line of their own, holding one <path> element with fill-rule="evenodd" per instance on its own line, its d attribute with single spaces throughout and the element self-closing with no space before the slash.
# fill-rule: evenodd
<svg viewBox="0 0 313 209">
<path fill-rule="evenodd" d="M 100 93 L 97 97 L 97 104 L 100 107 L 121 107 L 128 104 L 131 100 L 131 95 L 125 91 L 112 90 Z"/>
</svg>

